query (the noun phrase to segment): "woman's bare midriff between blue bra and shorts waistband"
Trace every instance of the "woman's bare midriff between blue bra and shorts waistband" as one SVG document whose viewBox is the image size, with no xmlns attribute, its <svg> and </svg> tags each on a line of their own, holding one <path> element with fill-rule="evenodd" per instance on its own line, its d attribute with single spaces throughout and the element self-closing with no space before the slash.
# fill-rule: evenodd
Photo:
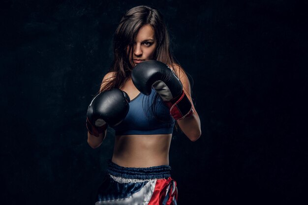
<svg viewBox="0 0 308 205">
<path fill-rule="evenodd" d="M 172 134 L 116 136 L 112 162 L 122 167 L 169 165 Z"/>
</svg>

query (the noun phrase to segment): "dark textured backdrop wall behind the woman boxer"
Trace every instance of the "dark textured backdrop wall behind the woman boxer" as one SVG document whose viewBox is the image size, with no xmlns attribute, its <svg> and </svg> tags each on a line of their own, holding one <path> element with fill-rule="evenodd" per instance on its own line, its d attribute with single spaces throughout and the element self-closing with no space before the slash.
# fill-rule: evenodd
<svg viewBox="0 0 308 205">
<path fill-rule="evenodd" d="M 0 204 L 93 204 L 114 140 L 88 146 L 86 112 L 140 4 L 163 13 L 194 80 L 202 136 L 170 148 L 179 205 L 305 204 L 304 0 L 2 1 Z"/>
</svg>

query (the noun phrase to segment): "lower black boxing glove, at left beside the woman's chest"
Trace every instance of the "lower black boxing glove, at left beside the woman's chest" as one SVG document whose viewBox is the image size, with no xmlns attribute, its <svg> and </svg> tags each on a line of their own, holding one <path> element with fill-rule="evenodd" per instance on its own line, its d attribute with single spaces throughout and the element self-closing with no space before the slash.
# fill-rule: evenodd
<svg viewBox="0 0 308 205">
<path fill-rule="evenodd" d="M 126 92 L 114 88 L 96 95 L 87 112 L 87 128 L 90 134 L 98 137 L 107 129 L 120 124 L 129 110 L 130 99 Z"/>
</svg>

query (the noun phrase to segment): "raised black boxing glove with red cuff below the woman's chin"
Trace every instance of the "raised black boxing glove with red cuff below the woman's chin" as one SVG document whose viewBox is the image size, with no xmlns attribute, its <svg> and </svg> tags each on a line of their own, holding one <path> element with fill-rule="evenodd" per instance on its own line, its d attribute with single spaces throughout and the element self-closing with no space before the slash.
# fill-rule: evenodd
<svg viewBox="0 0 308 205">
<path fill-rule="evenodd" d="M 181 81 L 168 65 L 157 60 L 138 63 L 132 70 L 131 79 L 145 95 L 150 95 L 153 87 L 169 107 L 174 119 L 183 119 L 193 113 Z"/>
</svg>

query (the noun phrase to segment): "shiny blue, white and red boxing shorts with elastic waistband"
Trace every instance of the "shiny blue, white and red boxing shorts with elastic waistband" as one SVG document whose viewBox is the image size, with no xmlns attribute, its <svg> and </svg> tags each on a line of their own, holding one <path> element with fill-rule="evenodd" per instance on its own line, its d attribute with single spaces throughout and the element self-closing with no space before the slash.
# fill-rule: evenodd
<svg viewBox="0 0 308 205">
<path fill-rule="evenodd" d="M 109 161 L 95 205 L 177 205 L 171 167 L 127 168 Z"/>
</svg>

